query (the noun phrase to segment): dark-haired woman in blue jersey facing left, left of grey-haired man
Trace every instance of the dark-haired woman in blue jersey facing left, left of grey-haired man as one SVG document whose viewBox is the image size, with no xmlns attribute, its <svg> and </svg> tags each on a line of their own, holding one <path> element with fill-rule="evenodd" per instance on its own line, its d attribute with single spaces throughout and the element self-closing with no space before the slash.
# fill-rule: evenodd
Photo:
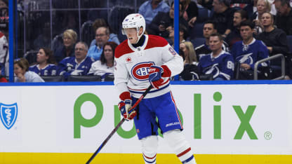
<svg viewBox="0 0 292 164">
<path fill-rule="evenodd" d="M 57 74 L 57 67 L 53 52 L 49 48 L 39 48 L 39 53 L 36 54 L 36 62 L 29 67 L 29 71 L 34 71 L 39 76 L 55 76 Z"/>
</svg>

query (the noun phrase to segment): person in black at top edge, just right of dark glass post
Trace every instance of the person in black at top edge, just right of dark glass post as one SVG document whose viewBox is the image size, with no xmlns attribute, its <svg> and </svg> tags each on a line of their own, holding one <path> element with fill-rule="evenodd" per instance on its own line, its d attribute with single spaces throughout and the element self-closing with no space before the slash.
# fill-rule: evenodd
<svg viewBox="0 0 292 164">
<path fill-rule="evenodd" d="M 196 2 L 191 1 L 191 0 L 180 0 L 180 2 L 183 3 L 185 6 L 185 13 L 183 15 L 183 18 L 187 20 L 188 25 L 190 27 L 194 27 L 194 22 L 197 20 L 197 16 L 199 13 L 199 8 L 196 4 Z"/>
</svg>

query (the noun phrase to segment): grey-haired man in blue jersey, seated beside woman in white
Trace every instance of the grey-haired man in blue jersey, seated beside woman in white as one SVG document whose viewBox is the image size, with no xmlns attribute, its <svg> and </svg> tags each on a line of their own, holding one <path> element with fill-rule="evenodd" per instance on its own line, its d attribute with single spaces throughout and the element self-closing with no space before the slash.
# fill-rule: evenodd
<svg viewBox="0 0 292 164">
<path fill-rule="evenodd" d="M 87 51 L 88 46 L 86 43 L 79 41 L 75 46 L 75 56 L 66 57 L 58 64 L 58 75 L 63 75 L 67 78 L 69 75 L 88 74 L 94 60 L 91 57 L 86 56 Z"/>
</svg>

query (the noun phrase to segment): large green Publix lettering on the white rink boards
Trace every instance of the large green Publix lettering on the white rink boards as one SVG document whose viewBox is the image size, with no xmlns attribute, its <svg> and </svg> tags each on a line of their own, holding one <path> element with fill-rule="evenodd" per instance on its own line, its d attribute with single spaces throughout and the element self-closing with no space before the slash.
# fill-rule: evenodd
<svg viewBox="0 0 292 164">
<path fill-rule="evenodd" d="M 220 102 L 223 98 L 223 95 L 220 92 L 213 93 L 213 101 Z M 190 107 L 193 107 L 193 138 L 194 139 L 203 139 L 206 136 L 202 136 L 202 119 L 206 118 L 201 116 L 201 94 L 200 93 L 194 93 L 194 101 L 190 102 Z M 95 116 L 93 116 L 91 119 L 84 118 L 81 114 L 81 106 L 84 104 L 84 102 L 93 102 L 95 104 L 96 112 Z M 212 100 L 211 100 L 212 101 Z M 220 105 L 213 105 L 213 114 L 209 118 L 213 119 L 213 130 L 210 132 L 213 133 L 213 139 L 222 139 L 221 131 L 222 123 L 221 123 L 221 106 Z M 121 121 L 121 114 L 119 112 L 119 109 L 117 105 L 114 105 L 114 125 L 110 125 L 112 128 L 114 128 L 119 121 Z M 256 105 L 248 105 L 246 109 L 243 109 L 240 104 L 232 105 L 232 111 L 237 115 L 237 120 L 240 122 L 240 124 L 237 127 L 237 130 L 234 132 L 229 132 L 231 134 L 230 137 L 233 139 L 242 139 L 243 135 L 246 133 L 248 135 L 249 139 L 258 139 L 258 136 L 256 134 L 256 130 L 253 129 L 253 126 L 251 125 L 250 121 L 253 119 L 253 114 L 256 111 Z M 225 113 L 223 113 L 225 114 Z M 76 102 L 74 103 L 74 138 L 81 138 L 81 127 L 84 128 L 91 128 L 95 125 L 98 125 L 102 119 L 103 115 L 103 106 L 100 98 L 97 95 L 94 95 L 92 93 L 84 93 L 83 95 L 80 95 Z M 180 118 L 183 121 L 183 116 L 180 114 Z M 190 122 L 188 122 L 190 123 Z M 204 127 L 203 127 L 204 128 Z M 210 130 L 210 129 L 208 129 Z M 226 131 L 227 129 L 223 129 Z M 206 132 L 206 130 L 204 130 Z M 123 130 L 123 128 L 119 128 L 117 130 L 117 133 L 122 138 L 131 138 L 136 135 L 135 132 L 135 125 L 133 124 L 133 128 L 131 130 Z M 234 135 L 232 135 L 232 133 Z M 160 136 L 162 136 L 159 133 Z M 265 132 L 265 139 L 271 139 L 272 134 L 270 132 Z"/>
</svg>

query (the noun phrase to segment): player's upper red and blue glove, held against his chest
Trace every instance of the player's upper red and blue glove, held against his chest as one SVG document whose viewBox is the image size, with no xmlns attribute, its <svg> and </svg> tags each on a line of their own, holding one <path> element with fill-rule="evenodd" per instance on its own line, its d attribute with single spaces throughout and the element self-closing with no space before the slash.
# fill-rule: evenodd
<svg viewBox="0 0 292 164">
<path fill-rule="evenodd" d="M 165 78 L 169 78 L 170 76 L 171 70 L 166 65 L 162 65 L 161 67 L 152 65 L 150 67 L 149 82 L 154 88 L 159 89 L 164 84 Z"/>
</svg>

